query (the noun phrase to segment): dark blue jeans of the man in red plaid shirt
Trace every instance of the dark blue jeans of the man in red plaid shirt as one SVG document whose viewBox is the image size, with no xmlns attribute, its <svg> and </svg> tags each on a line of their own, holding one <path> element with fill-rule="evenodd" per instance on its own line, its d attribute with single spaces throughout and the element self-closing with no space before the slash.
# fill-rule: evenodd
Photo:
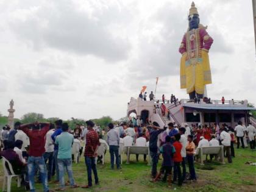
<svg viewBox="0 0 256 192">
<path fill-rule="evenodd" d="M 88 185 L 91 187 L 93 185 L 91 179 L 91 169 L 93 169 L 95 183 L 99 182 L 98 173 L 95 164 L 95 157 L 87 157 L 85 156 L 85 165 L 87 166 L 87 177 L 88 177 Z"/>
</svg>

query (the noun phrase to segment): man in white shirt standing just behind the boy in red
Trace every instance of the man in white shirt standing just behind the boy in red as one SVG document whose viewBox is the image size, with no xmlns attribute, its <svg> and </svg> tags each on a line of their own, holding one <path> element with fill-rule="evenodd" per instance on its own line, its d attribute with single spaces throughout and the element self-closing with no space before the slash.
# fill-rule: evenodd
<svg viewBox="0 0 256 192">
<path fill-rule="evenodd" d="M 186 179 L 186 146 L 188 142 L 188 138 L 185 135 L 186 129 L 184 127 L 180 127 L 180 143 L 182 144 L 182 180 L 185 181 Z"/>
</svg>

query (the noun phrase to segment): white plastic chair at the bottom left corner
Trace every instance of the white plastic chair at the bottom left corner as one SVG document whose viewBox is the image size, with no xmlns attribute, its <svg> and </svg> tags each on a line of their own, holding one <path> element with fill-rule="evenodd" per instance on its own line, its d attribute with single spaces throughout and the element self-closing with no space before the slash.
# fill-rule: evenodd
<svg viewBox="0 0 256 192">
<path fill-rule="evenodd" d="M 7 166 L 5 164 L 8 164 L 9 169 L 7 168 Z M 16 175 L 12 169 L 12 165 L 10 164 L 10 162 L 2 157 L 2 167 L 4 169 L 4 182 L 2 183 L 2 191 L 5 191 L 5 183 L 7 183 L 7 192 L 10 192 L 10 188 L 11 188 L 11 183 L 12 183 L 12 177 L 18 177 L 18 187 L 21 187 L 21 177 L 22 175 Z"/>
</svg>

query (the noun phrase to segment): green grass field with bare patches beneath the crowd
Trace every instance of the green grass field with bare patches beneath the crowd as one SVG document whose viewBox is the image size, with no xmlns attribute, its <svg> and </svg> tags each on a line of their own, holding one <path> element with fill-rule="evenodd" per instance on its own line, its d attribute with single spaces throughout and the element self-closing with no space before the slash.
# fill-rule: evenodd
<svg viewBox="0 0 256 192">
<path fill-rule="evenodd" d="M 256 162 L 256 151 L 251 149 L 235 149 L 236 157 L 233 163 L 221 165 L 218 162 L 206 163 L 204 166 L 196 164 L 197 182 L 185 183 L 182 187 L 167 183 L 151 183 L 151 167 L 143 162 L 143 155 L 140 162 L 135 162 L 135 155 L 132 155 L 132 162 L 126 165 L 126 155 L 123 155 L 121 170 L 110 169 L 110 157 L 107 152 L 105 165 L 98 165 L 100 185 L 88 189 L 66 188 L 66 191 L 256 191 L 256 166 L 246 165 L 246 162 Z M 160 168 L 160 163 L 158 163 Z M 208 170 L 211 169 L 211 170 Z M 188 171 L 188 168 L 187 168 Z M 87 185 L 87 172 L 84 157 L 80 163 L 73 164 L 74 178 L 78 185 Z M 2 187 L 2 166 L 0 168 L 0 184 Z M 65 177 L 66 179 L 67 177 Z M 51 189 L 58 187 L 57 184 L 49 183 Z M 40 183 L 36 184 L 37 191 L 43 191 Z M 24 191 L 24 188 L 17 188 L 15 179 L 12 182 L 12 191 Z"/>
</svg>

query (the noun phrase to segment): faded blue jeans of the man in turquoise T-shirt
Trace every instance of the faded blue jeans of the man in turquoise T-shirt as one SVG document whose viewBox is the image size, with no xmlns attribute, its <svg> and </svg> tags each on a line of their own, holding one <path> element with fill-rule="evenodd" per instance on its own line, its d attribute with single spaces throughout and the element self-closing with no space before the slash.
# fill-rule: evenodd
<svg viewBox="0 0 256 192">
<path fill-rule="evenodd" d="M 72 160 L 71 158 L 58 158 L 58 166 L 59 166 L 59 178 L 60 178 L 60 187 L 65 188 L 65 180 L 64 180 L 64 169 L 68 172 L 68 180 L 71 186 L 74 185 L 74 177 L 72 171 Z"/>
</svg>

